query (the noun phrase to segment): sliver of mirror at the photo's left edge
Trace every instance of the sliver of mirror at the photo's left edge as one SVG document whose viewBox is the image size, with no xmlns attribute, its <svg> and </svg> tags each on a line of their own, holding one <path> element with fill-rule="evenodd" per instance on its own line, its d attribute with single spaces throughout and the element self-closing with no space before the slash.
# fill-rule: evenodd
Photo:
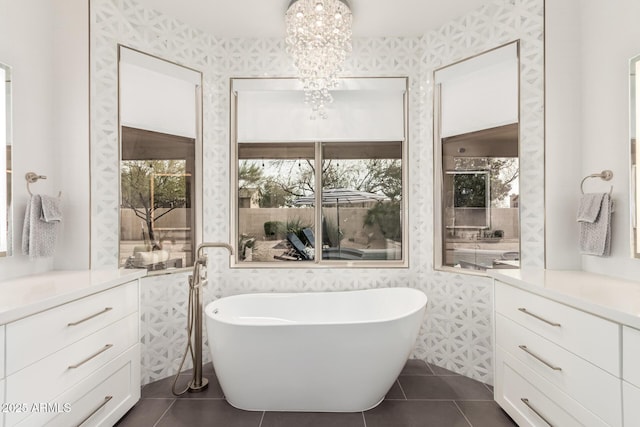
<svg viewBox="0 0 640 427">
<path fill-rule="evenodd" d="M 0 90 L 0 257 L 9 256 L 11 243 L 11 67 L 0 63 L 0 77 L 4 89 Z M 6 171 L 6 172 L 2 172 Z"/>
</svg>

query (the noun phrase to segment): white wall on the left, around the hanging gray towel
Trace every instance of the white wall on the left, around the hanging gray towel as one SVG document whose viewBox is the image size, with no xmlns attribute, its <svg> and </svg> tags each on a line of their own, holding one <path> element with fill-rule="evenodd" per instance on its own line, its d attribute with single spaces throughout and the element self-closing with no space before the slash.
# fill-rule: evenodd
<svg viewBox="0 0 640 427">
<path fill-rule="evenodd" d="M 84 25 L 87 33 L 87 8 L 86 0 L 0 0 L 0 61 L 13 67 L 14 125 L 14 255 L 0 258 L 0 280 L 51 270 L 56 261 L 88 267 L 88 36 L 83 43 L 78 32 Z M 57 260 L 21 254 L 30 171 L 48 177 L 32 184 L 34 192 L 65 195 Z"/>
</svg>

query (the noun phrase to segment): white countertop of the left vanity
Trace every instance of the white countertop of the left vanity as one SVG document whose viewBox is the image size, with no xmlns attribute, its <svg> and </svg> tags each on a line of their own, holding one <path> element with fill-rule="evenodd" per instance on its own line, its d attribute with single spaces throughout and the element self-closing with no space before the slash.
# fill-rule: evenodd
<svg viewBox="0 0 640 427">
<path fill-rule="evenodd" d="M 145 276 L 146 270 L 51 271 L 0 282 L 0 325 Z"/>
</svg>

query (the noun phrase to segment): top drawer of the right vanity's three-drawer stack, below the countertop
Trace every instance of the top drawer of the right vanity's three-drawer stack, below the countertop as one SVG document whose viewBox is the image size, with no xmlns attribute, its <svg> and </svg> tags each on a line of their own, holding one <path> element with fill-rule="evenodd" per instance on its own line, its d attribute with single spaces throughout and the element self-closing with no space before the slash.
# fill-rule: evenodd
<svg viewBox="0 0 640 427">
<path fill-rule="evenodd" d="M 495 309 L 525 328 L 620 377 L 618 324 L 498 281 L 495 282 Z"/>
</svg>

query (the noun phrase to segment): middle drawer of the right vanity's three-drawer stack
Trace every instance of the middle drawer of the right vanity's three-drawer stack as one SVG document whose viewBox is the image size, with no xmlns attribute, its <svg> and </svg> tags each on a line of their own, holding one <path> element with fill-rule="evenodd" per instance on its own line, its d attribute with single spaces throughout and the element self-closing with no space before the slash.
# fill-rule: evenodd
<svg viewBox="0 0 640 427">
<path fill-rule="evenodd" d="M 609 425 L 622 424 L 619 378 L 501 314 L 496 315 L 496 343 Z"/>
</svg>

